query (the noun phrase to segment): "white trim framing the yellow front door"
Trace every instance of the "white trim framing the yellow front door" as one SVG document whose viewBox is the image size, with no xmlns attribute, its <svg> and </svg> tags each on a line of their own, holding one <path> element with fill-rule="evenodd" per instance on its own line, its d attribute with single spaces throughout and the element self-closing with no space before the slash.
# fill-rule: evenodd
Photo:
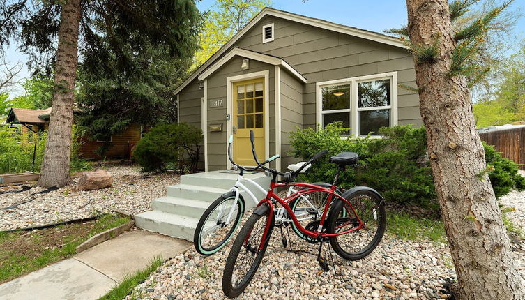
<svg viewBox="0 0 525 300">
<path fill-rule="evenodd" d="M 226 114 L 229 115 L 229 120 L 226 121 L 226 145 L 225 149 L 226 152 L 228 151 L 228 140 L 229 136 L 232 132 L 233 127 L 233 107 L 234 107 L 234 96 L 233 96 L 233 87 L 235 82 L 240 82 L 244 80 L 251 80 L 251 79 L 257 79 L 264 77 L 264 144 L 266 144 L 264 158 L 259 157 L 259 160 L 264 161 L 267 158 L 270 157 L 270 97 L 269 97 L 269 91 L 270 91 L 270 71 L 264 70 L 254 73 L 248 73 L 243 75 L 236 75 L 226 78 Z M 206 84 L 206 81 L 204 81 L 204 84 Z M 205 88 L 206 89 L 206 88 Z M 206 92 L 205 92 L 206 93 Z M 233 153 L 234 149 L 232 147 L 231 149 L 231 155 L 234 155 Z M 230 169 L 232 167 L 228 157 L 226 157 L 226 168 Z"/>
</svg>

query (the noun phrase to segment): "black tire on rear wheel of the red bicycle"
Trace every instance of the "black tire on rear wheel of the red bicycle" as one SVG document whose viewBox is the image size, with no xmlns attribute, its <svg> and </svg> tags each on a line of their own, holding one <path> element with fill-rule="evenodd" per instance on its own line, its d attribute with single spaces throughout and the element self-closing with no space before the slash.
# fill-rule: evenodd
<svg viewBox="0 0 525 300">
<path fill-rule="evenodd" d="M 340 236 L 335 236 L 335 237 L 330 238 L 330 245 L 332 246 L 335 253 L 337 253 L 337 255 L 340 255 L 340 257 L 343 257 L 346 260 L 360 260 L 363 257 L 366 257 L 367 255 L 372 253 L 372 251 L 379 245 L 379 242 L 383 238 L 383 234 L 386 228 L 386 210 L 385 210 L 383 199 L 376 193 L 371 192 L 370 190 L 358 190 L 356 191 L 356 193 L 351 193 L 351 195 L 347 195 L 345 199 L 347 199 L 347 201 L 350 203 L 352 200 L 358 200 L 360 202 L 363 202 L 362 200 L 359 200 L 358 197 L 370 197 L 370 199 L 373 200 L 374 208 L 371 210 L 371 213 L 372 213 L 372 218 L 375 221 L 377 221 L 377 225 L 374 227 L 373 225 L 374 223 L 367 222 L 367 226 L 370 225 L 372 230 L 375 230 L 375 232 L 374 232 L 374 237 L 372 237 L 371 241 L 367 243 L 366 246 L 364 247 L 358 246 L 359 244 L 353 241 L 351 243 L 344 243 L 344 241 L 341 241 L 340 239 L 342 239 L 342 237 L 349 236 L 349 234 L 358 234 L 361 231 L 365 232 L 367 231 L 367 227 L 360 229 L 360 230 L 356 230 L 355 231 L 356 233 L 349 232 L 348 234 L 343 234 Z M 360 203 L 357 203 L 357 204 L 360 204 Z M 330 209 L 330 213 L 328 214 L 329 223 L 328 223 L 328 228 L 327 228 L 327 231 L 329 234 L 333 234 L 334 232 L 336 232 L 336 226 L 342 223 L 342 218 L 338 218 L 338 216 L 340 216 L 342 209 L 344 209 L 344 207 L 347 207 L 347 203 L 343 202 L 342 200 L 338 200 L 334 204 L 332 209 Z M 354 208 L 354 209 L 358 211 L 357 208 Z M 345 211 L 349 213 L 349 216 L 353 214 L 353 212 L 347 209 L 345 209 Z M 379 217 L 377 217 L 378 213 L 379 213 Z M 361 215 L 359 217 L 365 220 L 364 218 L 365 214 L 364 213 L 359 213 L 359 214 Z M 355 214 L 353 215 L 355 216 Z M 344 218 L 344 219 L 346 220 L 348 218 Z M 355 226 L 355 223 L 353 225 Z M 337 229 L 337 231 L 341 231 L 341 230 L 344 231 L 347 229 L 340 229 L 340 228 Z M 344 245 L 342 245 L 342 243 L 344 243 Z M 346 246 L 356 246 L 356 248 L 360 248 L 360 249 L 357 251 L 348 251 L 346 250 Z"/>
</svg>

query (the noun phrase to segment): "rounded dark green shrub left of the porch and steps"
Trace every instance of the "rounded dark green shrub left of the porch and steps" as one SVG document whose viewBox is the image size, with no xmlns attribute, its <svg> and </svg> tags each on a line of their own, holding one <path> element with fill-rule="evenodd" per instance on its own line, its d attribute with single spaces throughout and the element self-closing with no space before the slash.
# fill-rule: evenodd
<svg viewBox="0 0 525 300">
<path fill-rule="evenodd" d="M 181 172 L 197 172 L 202 133 L 188 123 L 173 123 L 151 128 L 137 144 L 133 156 L 144 171 L 178 166 Z"/>
</svg>

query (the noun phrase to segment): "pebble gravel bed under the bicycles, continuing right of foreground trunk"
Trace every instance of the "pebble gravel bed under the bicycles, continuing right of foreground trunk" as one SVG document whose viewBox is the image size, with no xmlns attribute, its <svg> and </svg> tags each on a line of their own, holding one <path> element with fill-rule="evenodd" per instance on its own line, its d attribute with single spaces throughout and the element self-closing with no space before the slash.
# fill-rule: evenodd
<svg viewBox="0 0 525 300">
<path fill-rule="evenodd" d="M 516 207 L 508 216 L 524 226 L 525 192 L 513 191 L 500 201 L 505 206 Z M 303 242 L 293 232 L 290 236 L 294 252 L 282 247 L 276 227 L 261 267 L 238 299 L 424 300 L 450 297 L 447 286 L 455 280 L 455 271 L 444 243 L 400 240 L 389 234 L 387 227 L 378 248 L 363 260 L 349 262 L 333 253 L 338 272 L 335 274 L 331 265 L 330 271 L 321 271 L 317 263 L 317 245 Z M 208 257 L 193 249 L 172 257 L 125 299 L 225 299 L 222 271 L 231 244 L 232 241 Z M 324 257 L 329 259 L 326 246 L 323 247 Z M 525 284 L 525 243 L 517 241 L 513 248 Z"/>
</svg>

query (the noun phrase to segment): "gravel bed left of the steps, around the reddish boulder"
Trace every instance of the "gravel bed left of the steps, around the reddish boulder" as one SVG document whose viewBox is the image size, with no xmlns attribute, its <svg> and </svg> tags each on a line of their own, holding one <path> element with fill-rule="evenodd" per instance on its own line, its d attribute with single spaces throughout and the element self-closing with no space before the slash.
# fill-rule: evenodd
<svg viewBox="0 0 525 300">
<path fill-rule="evenodd" d="M 49 193 L 37 194 L 45 188 L 35 187 L 22 193 L 0 194 L 0 230 L 47 225 L 63 220 L 96 216 L 111 210 L 141 213 L 151 209 L 151 200 L 167 193 L 167 186 L 179 182 L 174 173 L 144 174 L 137 165 L 109 165 L 113 174 L 111 188 L 77 191 L 75 183 Z M 1 191 L 20 190 L 20 186 L 4 186 Z M 33 199 L 31 202 L 26 202 Z M 1 209 L 13 204 L 10 209 Z"/>
</svg>

